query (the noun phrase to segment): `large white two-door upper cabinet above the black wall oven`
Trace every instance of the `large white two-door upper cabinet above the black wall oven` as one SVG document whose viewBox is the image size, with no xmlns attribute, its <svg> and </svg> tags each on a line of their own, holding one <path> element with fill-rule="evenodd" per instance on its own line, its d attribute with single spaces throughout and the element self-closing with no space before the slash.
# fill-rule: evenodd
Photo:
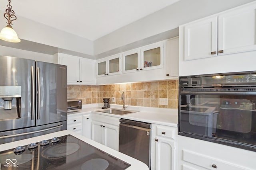
<svg viewBox="0 0 256 170">
<path fill-rule="evenodd" d="M 184 60 L 256 50 L 256 3 L 181 25 Z"/>
</svg>

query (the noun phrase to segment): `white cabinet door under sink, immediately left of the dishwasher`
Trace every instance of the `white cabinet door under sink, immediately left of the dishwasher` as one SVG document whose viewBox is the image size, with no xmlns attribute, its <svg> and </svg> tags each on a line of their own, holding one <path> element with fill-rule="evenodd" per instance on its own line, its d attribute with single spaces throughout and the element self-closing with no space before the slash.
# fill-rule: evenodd
<svg viewBox="0 0 256 170">
<path fill-rule="evenodd" d="M 119 145 L 119 127 L 104 124 L 104 145 L 114 150 L 118 150 Z"/>
</svg>

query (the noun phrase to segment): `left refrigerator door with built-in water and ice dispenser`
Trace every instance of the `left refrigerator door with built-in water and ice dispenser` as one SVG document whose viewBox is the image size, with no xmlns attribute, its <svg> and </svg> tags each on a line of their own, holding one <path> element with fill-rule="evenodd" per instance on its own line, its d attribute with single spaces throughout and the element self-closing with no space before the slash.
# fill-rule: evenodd
<svg viewBox="0 0 256 170">
<path fill-rule="evenodd" d="M 35 125 L 33 107 L 33 75 L 35 61 L 16 57 L 0 56 L 0 131 L 31 127 Z M 20 89 L 21 95 L 13 95 L 10 89 Z M 9 90 L 8 90 L 9 89 Z M 17 93 L 17 90 L 14 90 Z M 5 93 L 5 94 L 3 94 Z M 7 96 L 4 96 L 7 95 Z M 21 97 L 19 97 L 21 96 Z M 10 97 L 6 99 L 5 97 Z M 13 98 L 12 98 L 13 97 Z M 12 107 L 4 107 L 5 100 Z"/>
</svg>

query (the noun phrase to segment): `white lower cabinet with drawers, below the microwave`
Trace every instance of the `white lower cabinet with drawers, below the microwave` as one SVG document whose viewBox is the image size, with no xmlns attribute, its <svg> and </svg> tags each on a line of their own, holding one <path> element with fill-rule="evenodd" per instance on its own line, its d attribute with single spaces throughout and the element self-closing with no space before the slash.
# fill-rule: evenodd
<svg viewBox="0 0 256 170">
<path fill-rule="evenodd" d="M 68 130 L 91 139 L 91 113 L 74 113 L 68 115 Z"/>
</svg>

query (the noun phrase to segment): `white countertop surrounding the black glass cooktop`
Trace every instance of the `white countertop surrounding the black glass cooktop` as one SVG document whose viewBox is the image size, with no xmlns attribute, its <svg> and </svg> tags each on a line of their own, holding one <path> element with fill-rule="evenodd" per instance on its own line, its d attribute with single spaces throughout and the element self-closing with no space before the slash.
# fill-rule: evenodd
<svg viewBox="0 0 256 170">
<path fill-rule="evenodd" d="M 138 170 L 138 169 L 139 170 L 148 170 L 148 166 L 146 164 L 144 164 L 143 162 L 140 162 L 139 160 L 136 160 L 126 154 L 118 152 L 114 149 L 106 147 L 100 143 L 92 141 L 91 139 L 88 139 L 82 135 L 78 135 L 77 133 L 74 133 L 74 132 L 68 131 L 68 130 L 50 133 L 50 134 L 42 135 L 42 136 L 38 136 L 38 137 L 32 137 L 32 138 L 15 141 L 15 142 L 11 142 L 11 143 L 5 143 L 5 144 L 0 145 L 0 151 L 14 149 L 18 146 L 29 145 L 30 143 L 33 143 L 33 142 L 36 143 L 36 142 L 40 142 L 44 139 L 48 140 L 48 139 L 52 139 L 54 137 L 60 137 L 60 136 L 69 135 L 69 134 L 104 151 L 104 152 L 107 152 L 108 154 L 115 156 L 116 158 L 119 158 L 119 159 L 131 164 L 131 166 L 128 167 L 127 170 Z"/>
</svg>

